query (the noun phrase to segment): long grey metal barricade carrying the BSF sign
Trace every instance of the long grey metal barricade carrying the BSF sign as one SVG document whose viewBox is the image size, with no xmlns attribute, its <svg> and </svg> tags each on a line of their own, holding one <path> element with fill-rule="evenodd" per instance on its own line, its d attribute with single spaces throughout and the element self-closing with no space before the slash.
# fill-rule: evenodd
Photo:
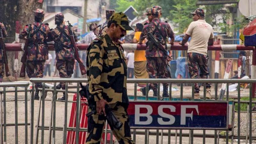
<svg viewBox="0 0 256 144">
<path fill-rule="evenodd" d="M 38 137 L 39 137 L 39 130 L 41 130 L 41 143 L 46 143 L 46 141 L 44 140 L 44 131 L 45 130 L 49 130 L 49 135 L 48 135 L 48 143 L 56 143 L 56 131 L 62 131 L 62 142 L 61 143 L 67 143 L 67 131 L 75 131 L 76 132 L 76 144 L 78 144 L 78 140 L 79 140 L 79 132 L 81 131 L 87 131 L 86 128 L 80 128 L 79 124 L 80 124 L 80 117 L 79 117 L 79 113 L 76 113 L 76 127 L 68 127 L 67 122 L 68 122 L 68 102 L 76 102 L 78 103 L 76 105 L 76 111 L 79 112 L 80 111 L 80 97 L 79 97 L 79 83 L 86 83 L 87 79 L 84 78 L 31 78 L 30 81 L 33 83 L 33 91 L 34 91 L 34 84 L 37 82 L 43 82 L 43 88 L 42 88 L 42 93 L 44 95 L 44 92 L 46 92 L 46 89 L 44 88 L 45 83 L 53 83 L 53 89 L 48 89 L 47 91 L 52 91 L 53 92 L 53 96 L 51 98 L 51 109 L 52 111 L 50 112 L 50 121 L 49 121 L 49 125 L 45 125 L 45 120 L 44 120 L 44 116 L 45 116 L 45 100 L 44 98 L 42 98 L 42 118 L 41 118 L 41 125 L 39 125 L 40 123 L 40 105 L 39 105 L 39 111 L 38 111 L 38 115 L 37 115 L 37 123 L 36 123 L 36 139 L 35 139 L 35 143 L 38 143 Z M 58 82 L 65 82 L 66 83 L 66 89 L 64 90 L 59 90 L 59 92 L 65 92 L 65 96 L 66 96 L 66 100 L 62 101 L 65 102 L 64 104 L 64 119 L 63 119 L 63 127 L 56 127 L 56 101 L 60 101 L 60 100 L 56 100 L 56 83 Z M 68 83 L 76 83 L 76 91 L 68 91 Z M 143 100 L 171 100 L 172 98 L 177 98 L 177 95 L 174 96 L 172 95 L 172 89 L 171 86 L 173 84 L 180 84 L 180 95 L 178 96 L 180 101 L 185 100 L 184 99 L 184 95 L 183 95 L 183 89 L 184 89 L 184 83 L 188 83 L 188 84 L 192 84 L 192 92 L 191 92 L 191 100 L 194 100 L 194 84 L 195 83 L 203 83 L 204 85 L 204 96 L 203 96 L 203 101 L 206 100 L 206 83 L 212 83 L 215 84 L 215 91 L 214 91 L 214 100 L 218 101 L 218 84 L 220 83 L 227 83 L 227 89 L 226 89 L 226 96 L 225 96 L 225 101 L 229 100 L 229 89 L 228 89 L 228 85 L 229 84 L 233 84 L 233 83 L 238 83 L 238 87 L 237 87 L 237 100 L 233 100 L 235 104 L 237 104 L 237 135 L 234 135 L 234 117 L 232 117 L 233 119 L 233 124 L 232 124 L 232 128 L 230 131 L 226 131 L 226 134 L 223 134 L 223 132 L 220 132 L 220 130 L 203 130 L 202 133 L 194 133 L 195 130 L 173 130 L 173 129 L 167 129 L 167 130 L 163 130 L 163 129 L 156 129 L 156 130 L 151 130 L 151 129 L 145 129 L 145 130 L 136 130 L 133 129 L 131 130 L 132 134 L 133 134 L 133 140 L 136 143 L 145 143 L 148 144 L 149 143 L 149 138 L 152 135 L 156 136 L 156 144 L 159 144 L 159 142 L 161 144 L 163 144 L 164 140 L 166 141 L 166 139 L 164 137 L 167 137 L 167 143 L 170 144 L 171 140 L 174 141 L 174 143 L 184 143 L 184 138 L 188 137 L 188 143 L 192 144 L 194 142 L 194 138 L 202 138 L 202 142 L 206 143 L 206 138 L 214 138 L 214 142 L 212 140 L 212 143 L 219 143 L 220 139 L 225 139 L 226 143 L 229 143 L 229 141 L 231 141 L 231 143 L 234 142 L 235 139 L 237 139 L 237 142 L 240 143 L 241 139 L 248 139 L 249 143 L 252 143 L 252 140 L 256 140 L 256 136 L 252 136 L 252 104 L 256 104 L 256 101 L 252 101 L 252 83 L 255 83 L 256 79 L 127 79 L 127 83 L 134 83 L 134 95 L 130 96 L 130 100 L 141 100 L 143 98 Z M 137 95 L 137 84 L 138 83 L 146 83 L 147 87 L 146 87 L 146 96 L 138 96 Z M 151 97 L 149 96 L 148 93 L 148 84 L 149 83 L 157 83 L 158 84 L 158 94 L 157 94 L 157 98 L 156 97 Z M 160 83 L 169 83 L 171 86 L 169 88 L 169 98 L 162 98 L 160 97 Z M 249 100 L 248 101 L 241 101 L 241 94 L 240 94 L 240 84 L 241 83 L 249 83 L 250 84 L 250 91 L 249 91 Z M 74 87 L 73 87 L 74 88 Z M 77 99 L 76 101 L 70 101 L 68 100 L 68 93 L 76 93 L 77 94 Z M 33 99 L 33 98 L 32 98 Z M 31 99 L 31 100 L 32 100 Z M 41 99 L 41 98 L 40 98 Z M 41 101 L 39 101 L 40 103 Z M 240 121 L 241 121 L 241 104 L 247 104 L 248 105 L 248 110 L 247 110 L 247 120 L 248 120 L 248 125 L 247 127 L 249 128 L 249 130 L 246 130 L 246 135 L 241 135 L 241 125 L 240 125 Z M 235 116 L 235 115 L 233 115 Z M 58 123 L 60 123 L 60 121 L 58 121 Z M 184 132 L 184 131 L 189 131 L 189 132 Z M 214 134 L 209 134 L 206 133 L 206 131 L 212 131 L 214 132 Z M 110 131 L 107 131 L 111 133 Z M 33 132 L 32 132 L 33 133 Z M 137 139 L 139 141 L 136 141 L 136 136 L 137 135 L 144 135 L 144 142 L 141 142 L 141 138 Z M 160 136 L 160 139 L 159 139 Z M 106 137 L 106 135 L 105 135 Z M 112 133 L 111 133 L 111 137 L 113 137 Z M 179 137 L 179 139 L 178 139 Z M 152 137 L 151 137 L 152 138 Z M 105 140 L 106 143 L 106 140 Z M 110 141 L 110 143 L 112 143 L 112 141 Z"/>
</svg>

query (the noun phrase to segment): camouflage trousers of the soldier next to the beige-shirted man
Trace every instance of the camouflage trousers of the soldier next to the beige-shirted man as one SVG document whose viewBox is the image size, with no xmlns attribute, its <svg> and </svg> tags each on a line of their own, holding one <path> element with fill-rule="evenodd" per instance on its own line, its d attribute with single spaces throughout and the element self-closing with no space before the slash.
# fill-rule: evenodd
<svg viewBox="0 0 256 144">
<path fill-rule="evenodd" d="M 171 78 L 170 71 L 167 70 L 166 58 L 162 57 L 147 57 L 147 71 L 149 78 Z M 154 91 L 157 90 L 157 84 L 149 84 Z M 163 83 L 163 87 L 168 87 L 169 84 Z"/>
</svg>

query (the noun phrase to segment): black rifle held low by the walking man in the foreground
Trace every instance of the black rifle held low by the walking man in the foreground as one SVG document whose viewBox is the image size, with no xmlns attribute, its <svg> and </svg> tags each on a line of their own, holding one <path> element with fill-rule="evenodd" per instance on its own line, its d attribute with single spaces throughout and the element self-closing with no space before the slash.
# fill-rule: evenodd
<svg viewBox="0 0 256 144">
<path fill-rule="evenodd" d="M 86 86 L 83 86 L 83 84 L 80 83 L 80 86 L 81 86 L 82 90 L 79 91 L 79 94 L 81 97 L 85 97 L 88 100 L 88 106 L 92 110 L 91 112 L 86 114 L 86 116 L 89 117 L 89 116 L 92 116 L 93 114 L 95 115 L 97 113 L 96 112 L 96 102 L 94 100 L 94 96 L 89 93 L 89 84 L 87 84 Z M 119 120 L 116 118 L 116 116 L 113 114 L 113 112 L 111 110 L 112 110 L 112 108 L 110 108 L 108 106 L 108 104 L 106 104 L 105 112 L 106 112 L 106 118 L 107 118 L 108 124 L 111 127 L 114 127 L 116 129 L 120 130 L 123 123 L 119 122 Z"/>
</svg>

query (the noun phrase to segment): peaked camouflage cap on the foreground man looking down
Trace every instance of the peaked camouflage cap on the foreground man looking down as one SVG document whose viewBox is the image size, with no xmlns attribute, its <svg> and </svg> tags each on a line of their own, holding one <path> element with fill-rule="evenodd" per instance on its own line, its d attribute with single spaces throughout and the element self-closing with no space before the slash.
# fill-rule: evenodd
<svg viewBox="0 0 256 144">
<path fill-rule="evenodd" d="M 129 26 L 129 21 L 127 16 L 123 13 L 123 12 L 118 12 L 118 13 L 114 13 L 111 17 L 110 17 L 111 21 L 116 21 L 116 24 L 118 24 L 121 28 L 123 28 L 124 30 L 133 30 L 130 26 Z"/>
</svg>

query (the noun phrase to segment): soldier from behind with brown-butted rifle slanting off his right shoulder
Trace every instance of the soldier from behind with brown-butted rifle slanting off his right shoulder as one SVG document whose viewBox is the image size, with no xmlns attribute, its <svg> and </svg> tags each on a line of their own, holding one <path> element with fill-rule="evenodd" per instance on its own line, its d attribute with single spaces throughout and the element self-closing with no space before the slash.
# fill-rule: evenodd
<svg viewBox="0 0 256 144">
<path fill-rule="evenodd" d="M 56 67 L 59 70 L 60 77 L 70 78 L 74 71 L 75 57 L 68 26 L 64 25 L 63 21 L 64 15 L 61 12 L 57 13 L 55 15 L 55 24 L 57 27 L 51 29 L 48 37 L 49 40 L 54 41 L 55 59 L 57 60 Z M 75 33 L 74 36 L 77 41 Z M 65 90 L 65 83 L 58 84 L 56 88 Z M 65 93 L 58 100 L 65 100 Z"/>
</svg>

